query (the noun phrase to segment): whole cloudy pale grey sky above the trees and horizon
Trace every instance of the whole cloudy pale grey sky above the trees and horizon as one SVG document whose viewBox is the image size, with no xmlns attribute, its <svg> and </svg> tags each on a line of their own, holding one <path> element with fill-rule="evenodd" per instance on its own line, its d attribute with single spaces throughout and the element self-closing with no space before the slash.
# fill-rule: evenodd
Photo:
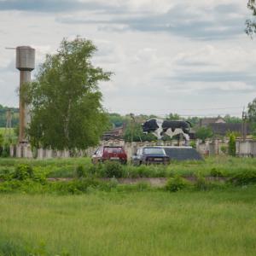
<svg viewBox="0 0 256 256">
<path fill-rule="evenodd" d="M 97 48 L 114 73 L 100 84 L 117 113 L 240 115 L 256 97 L 255 39 L 241 0 L 0 0 L 0 104 L 18 106 L 15 51 L 32 45 L 37 65 L 62 38 Z"/>
</svg>

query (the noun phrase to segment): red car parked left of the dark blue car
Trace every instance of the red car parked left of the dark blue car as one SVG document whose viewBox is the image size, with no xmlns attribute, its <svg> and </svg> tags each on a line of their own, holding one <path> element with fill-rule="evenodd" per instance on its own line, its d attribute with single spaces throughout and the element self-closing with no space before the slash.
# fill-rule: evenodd
<svg viewBox="0 0 256 256">
<path fill-rule="evenodd" d="M 119 146 L 102 146 L 97 148 L 96 152 L 91 157 L 93 164 L 106 160 L 117 160 L 122 164 L 126 164 L 127 154 L 125 153 L 125 149 Z"/>
</svg>

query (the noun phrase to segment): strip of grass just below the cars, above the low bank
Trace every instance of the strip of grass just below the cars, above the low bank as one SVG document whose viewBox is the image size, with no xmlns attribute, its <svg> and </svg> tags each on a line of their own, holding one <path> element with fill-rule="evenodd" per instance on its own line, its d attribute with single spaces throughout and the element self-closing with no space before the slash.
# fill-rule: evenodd
<svg viewBox="0 0 256 256">
<path fill-rule="evenodd" d="M 34 172 L 43 172 L 46 177 L 75 177 L 78 166 L 83 167 L 85 176 L 94 172 L 98 177 L 104 177 L 102 166 L 93 166 L 89 157 L 51 160 L 0 158 L 0 175 L 6 170 L 14 172 L 19 165 L 32 166 Z M 230 177 L 236 173 L 256 173 L 256 159 L 219 156 L 202 161 L 172 161 L 169 166 L 118 167 L 121 169 L 118 174 L 120 177 L 172 177 L 174 175 Z"/>
</svg>

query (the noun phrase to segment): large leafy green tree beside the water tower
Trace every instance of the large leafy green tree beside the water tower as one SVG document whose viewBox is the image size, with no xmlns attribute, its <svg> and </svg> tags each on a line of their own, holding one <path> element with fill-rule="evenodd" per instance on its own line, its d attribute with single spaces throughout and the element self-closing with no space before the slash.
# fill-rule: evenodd
<svg viewBox="0 0 256 256">
<path fill-rule="evenodd" d="M 25 86 L 22 96 L 32 106 L 27 134 L 33 146 L 73 149 L 98 143 L 108 125 L 98 82 L 111 73 L 93 67 L 95 52 L 90 40 L 64 38 L 56 54 L 46 55 L 35 81 Z"/>
</svg>

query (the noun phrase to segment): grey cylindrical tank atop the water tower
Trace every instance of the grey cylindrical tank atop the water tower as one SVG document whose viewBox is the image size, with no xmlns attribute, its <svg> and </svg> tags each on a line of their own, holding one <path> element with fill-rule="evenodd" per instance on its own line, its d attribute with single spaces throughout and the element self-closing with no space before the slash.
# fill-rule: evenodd
<svg viewBox="0 0 256 256">
<path fill-rule="evenodd" d="M 35 68 L 35 49 L 30 46 L 18 46 L 16 68 L 20 71 L 32 71 Z"/>
</svg>

